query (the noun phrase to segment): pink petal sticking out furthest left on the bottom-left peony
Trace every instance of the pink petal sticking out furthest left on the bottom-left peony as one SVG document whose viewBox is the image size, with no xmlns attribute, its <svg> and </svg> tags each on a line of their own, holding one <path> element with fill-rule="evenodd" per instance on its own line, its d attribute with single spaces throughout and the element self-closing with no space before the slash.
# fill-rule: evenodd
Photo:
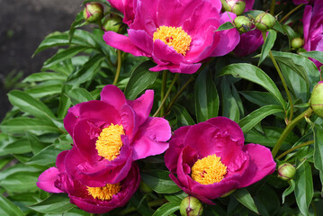
<svg viewBox="0 0 323 216">
<path fill-rule="evenodd" d="M 37 186 L 46 192 L 49 193 L 63 193 L 55 186 L 55 181 L 58 177 L 59 171 L 56 167 L 50 167 L 49 169 L 45 170 L 40 176 L 38 177 L 38 182 L 36 183 Z"/>
</svg>

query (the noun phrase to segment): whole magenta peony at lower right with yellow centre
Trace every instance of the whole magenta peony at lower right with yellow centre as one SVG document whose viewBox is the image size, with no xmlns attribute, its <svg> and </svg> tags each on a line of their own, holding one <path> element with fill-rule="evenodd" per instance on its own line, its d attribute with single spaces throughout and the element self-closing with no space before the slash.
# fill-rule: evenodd
<svg viewBox="0 0 323 216">
<path fill-rule="evenodd" d="M 185 193 L 213 204 L 212 199 L 274 172 L 270 150 L 244 141 L 238 124 L 225 117 L 179 128 L 165 154 L 169 176 Z"/>
</svg>

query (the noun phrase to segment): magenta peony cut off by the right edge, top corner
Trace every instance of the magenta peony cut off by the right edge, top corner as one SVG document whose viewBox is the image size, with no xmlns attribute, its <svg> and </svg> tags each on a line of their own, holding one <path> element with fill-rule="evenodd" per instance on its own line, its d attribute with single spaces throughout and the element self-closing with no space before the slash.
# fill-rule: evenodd
<svg viewBox="0 0 323 216">
<path fill-rule="evenodd" d="M 313 6 L 306 5 L 303 14 L 304 49 L 323 51 L 323 1 L 316 1 Z M 322 64 L 311 59 L 317 67 Z"/>
</svg>

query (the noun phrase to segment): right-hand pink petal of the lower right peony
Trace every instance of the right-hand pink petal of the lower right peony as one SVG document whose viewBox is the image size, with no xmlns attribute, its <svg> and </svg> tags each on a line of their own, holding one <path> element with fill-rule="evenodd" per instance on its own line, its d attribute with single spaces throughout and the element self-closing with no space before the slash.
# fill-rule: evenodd
<svg viewBox="0 0 323 216">
<path fill-rule="evenodd" d="M 265 177 L 274 173 L 276 163 L 269 148 L 259 144 L 248 144 L 244 146 L 244 151 L 249 154 L 250 163 L 245 174 L 240 180 L 239 187 L 246 187 L 254 184 Z"/>
</svg>

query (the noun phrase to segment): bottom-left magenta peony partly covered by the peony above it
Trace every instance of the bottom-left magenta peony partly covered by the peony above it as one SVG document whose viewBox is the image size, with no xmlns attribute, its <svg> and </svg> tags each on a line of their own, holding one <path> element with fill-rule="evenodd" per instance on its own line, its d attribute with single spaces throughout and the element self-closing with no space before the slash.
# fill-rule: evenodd
<svg viewBox="0 0 323 216">
<path fill-rule="evenodd" d="M 75 148 L 75 147 L 73 147 Z M 136 192 L 140 183 L 139 167 L 135 162 L 130 172 L 119 183 L 103 187 L 89 187 L 67 174 L 66 158 L 69 150 L 58 155 L 56 166 L 45 170 L 37 186 L 49 193 L 68 193 L 70 202 L 90 213 L 105 213 L 125 205 Z"/>
</svg>

